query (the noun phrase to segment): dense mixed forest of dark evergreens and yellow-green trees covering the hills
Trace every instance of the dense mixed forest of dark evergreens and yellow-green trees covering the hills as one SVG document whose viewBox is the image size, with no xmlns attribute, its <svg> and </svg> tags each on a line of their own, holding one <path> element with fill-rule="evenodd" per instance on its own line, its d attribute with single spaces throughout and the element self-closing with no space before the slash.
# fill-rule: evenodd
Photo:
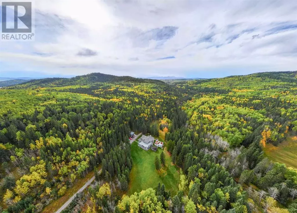
<svg viewBox="0 0 297 213">
<path fill-rule="evenodd" d="M 296 71 L 170 84 L 45 78 L 1 88 L 0 105 L 0 212 L 45 212 L 91 172 L 62 212 L 297 212 L 297 168 L 264 152 L 297 135 Z M 174 192 L 127 193 L 130 131 L 165 134 L 170 162 L 156 157 L 156 170 L 178 168 Z"/>
</svg>

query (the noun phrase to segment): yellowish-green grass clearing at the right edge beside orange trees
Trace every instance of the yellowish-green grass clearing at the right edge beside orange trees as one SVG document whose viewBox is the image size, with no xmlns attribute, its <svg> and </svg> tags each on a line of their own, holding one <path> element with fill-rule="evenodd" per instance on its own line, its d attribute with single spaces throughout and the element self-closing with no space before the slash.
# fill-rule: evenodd
<svg viewBox="0 0 297 213">
<path fill-rule="evenodd" d="M 265 156 L 274 162 L 280 162 L 297 169 L 297 136 L 289 137 L 278 146 L 266 143 Z"/>
</svg>

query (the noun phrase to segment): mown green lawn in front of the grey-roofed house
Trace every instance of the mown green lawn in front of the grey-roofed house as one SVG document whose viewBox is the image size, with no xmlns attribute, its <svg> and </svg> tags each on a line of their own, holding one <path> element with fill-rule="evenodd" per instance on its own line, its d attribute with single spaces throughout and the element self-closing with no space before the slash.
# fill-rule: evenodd
<svg viewBox="0 0 297 213">
<path fill-rule="evenodd" d="M 155 168 L 155 157 L 159 157 L 161 152 L 160 148 L 156 152 L 145 151 L 138 147 L 136 141 L 131 144 L 133 167 L 130 173 L 129 195 L 146 188 L 154 188 L 159 182 L 164 183 L 166 190 L 170 190 L 171 194 L 175 195 L 178 192 L 179 169 L 172 165 L 168 152 L 165 151 L 166 167 L 161 169 L 161 172 Z"/>
</svg>

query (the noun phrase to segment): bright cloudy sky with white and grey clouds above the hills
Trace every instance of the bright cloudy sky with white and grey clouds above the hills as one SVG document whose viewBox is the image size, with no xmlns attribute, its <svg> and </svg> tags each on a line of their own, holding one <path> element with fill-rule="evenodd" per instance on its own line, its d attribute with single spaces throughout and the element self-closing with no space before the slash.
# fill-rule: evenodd
<svg viewBox="0 0 297 213">
<path fill-rule="evenodd" d="M 1 77 L 297 70 L 297 1 L 39 0 L 35 41 L 0 45 Z"/>
</svg>

